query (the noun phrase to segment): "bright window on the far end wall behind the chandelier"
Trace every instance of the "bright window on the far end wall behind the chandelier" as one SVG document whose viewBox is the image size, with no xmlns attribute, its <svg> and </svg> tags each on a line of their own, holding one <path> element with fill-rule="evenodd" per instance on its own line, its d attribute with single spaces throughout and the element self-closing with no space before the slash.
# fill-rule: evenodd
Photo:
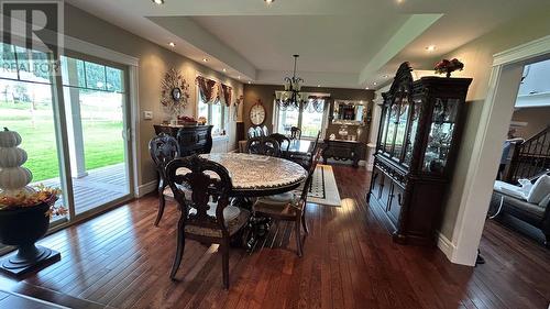
<svg viewBox="0 0 550 309">
<path fill-rule="evenodd" d="M 315 100 L 317 100 L 316 108 L 314 108 Z M 297 126 L 301 130 L 301 137 L 316 139 L 319 131 L 324 131 L 324 119 L 328 112 L 328 103 L 324 99 L 309 99 L 299 108 L 287 109 L 280 109 L 275 102 L 274 109 L 275 129 L 278 133 L 288 135 L 290 128 Z"/>
</svg>

